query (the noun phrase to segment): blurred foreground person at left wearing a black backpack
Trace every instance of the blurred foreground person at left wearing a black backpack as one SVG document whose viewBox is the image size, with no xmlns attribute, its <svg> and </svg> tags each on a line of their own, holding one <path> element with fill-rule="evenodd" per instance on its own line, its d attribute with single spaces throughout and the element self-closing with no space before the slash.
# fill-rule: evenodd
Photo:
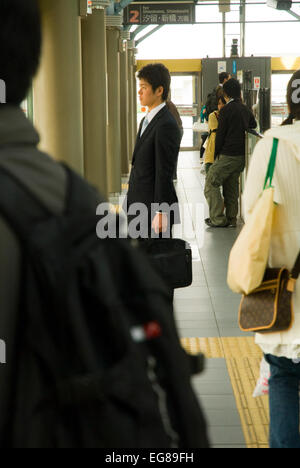
<svg viewBox="0 0 300 468">
<path fill-rule="evenodd" d="M 167 289 L 126 240 L 96 235 L 101 196 L 38 150 L 20 109 L 40 59 L 36 0 L 1 0 L 0 44 L 0 447 L 207 447 Z M 154 329 L 135 340 L 142 323 Z"/>
</svg>

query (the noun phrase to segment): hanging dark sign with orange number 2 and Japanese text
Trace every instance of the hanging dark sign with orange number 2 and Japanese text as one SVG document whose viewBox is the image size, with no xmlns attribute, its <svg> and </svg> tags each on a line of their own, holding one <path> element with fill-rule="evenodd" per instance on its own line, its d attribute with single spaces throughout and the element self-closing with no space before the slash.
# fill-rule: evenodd
<svg viewBox="0 0 300 468">
<path fill-rule="evenodd" d="M 131 3 L 124 11 L 124 24 L 165 25 L 195 23 L 195 3 Z"/>
</svg>

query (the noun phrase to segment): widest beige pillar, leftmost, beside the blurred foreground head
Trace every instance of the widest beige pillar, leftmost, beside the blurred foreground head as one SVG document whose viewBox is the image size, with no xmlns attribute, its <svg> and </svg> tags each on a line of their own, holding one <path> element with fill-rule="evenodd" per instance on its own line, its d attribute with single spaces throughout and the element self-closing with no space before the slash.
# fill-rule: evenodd
<svg viewBox="0 0 300 468">
<path fill-rule="evenodd" d="M 80 18 L 77 0 L 39 0 L 43 50 L 33 83 L 40 149 L 83 174 Z"/>
</svg>

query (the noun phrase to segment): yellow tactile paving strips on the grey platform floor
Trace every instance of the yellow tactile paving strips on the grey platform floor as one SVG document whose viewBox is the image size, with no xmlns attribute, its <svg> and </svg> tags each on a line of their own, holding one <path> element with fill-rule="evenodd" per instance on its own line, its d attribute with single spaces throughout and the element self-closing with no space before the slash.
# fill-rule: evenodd
<svg viewBox="0 0 300 468">
<path fill-rule="evenodd" d="M 252 337 L 183 338 L 187 352 L 225 358 L 248 448 L 268 448 L 268 397 L 253 398 L 262 352 Z"/>
</svg>

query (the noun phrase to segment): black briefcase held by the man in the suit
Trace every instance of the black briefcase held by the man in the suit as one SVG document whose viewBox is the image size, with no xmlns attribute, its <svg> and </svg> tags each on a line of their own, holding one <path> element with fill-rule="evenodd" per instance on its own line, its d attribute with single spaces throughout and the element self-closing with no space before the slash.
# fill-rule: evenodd
<svg viewBox="0 0 300 468">
<path fill-rule="evenodd" d="M 192 250 L 188 242 L 182 239 L 143 239 L 139 246 L 172 289 L 192 284 Z"/>
</svg>

